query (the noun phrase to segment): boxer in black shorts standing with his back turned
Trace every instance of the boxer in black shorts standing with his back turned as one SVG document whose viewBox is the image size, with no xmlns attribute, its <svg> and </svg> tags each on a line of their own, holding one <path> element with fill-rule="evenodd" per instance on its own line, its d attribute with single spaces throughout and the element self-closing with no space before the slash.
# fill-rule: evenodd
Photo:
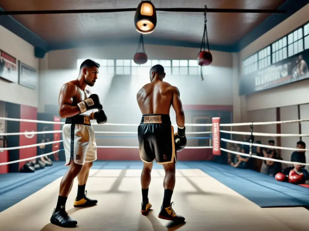
<svg viewBox="0 0 309 231">
<path fill-rule="evenodd" d="M 142 209 L 145 213 L 151 208 L 148 200 L 148 189 L 151 180 L 153 161 L 162 164 L 165 177 L 163 181 L 164 198 L 159 218 L 170 221 L 184 221 L 184 217 L 172 209 L 171 197 L 175 187 L 176 151 L 186 145 L 184 110 L 177 87 L 163 82 L 164 68 L 155 65 L 150 69 L 150 83 L 143 86 L 137 93 L 137 102 L 142 112 L 142 121 L 138 126 L 139 155 L 144 162 L 142 184 Z M 170 120 L 170 108 L 176 112 L 178 132 L 174 134 Z"/>
</svg>

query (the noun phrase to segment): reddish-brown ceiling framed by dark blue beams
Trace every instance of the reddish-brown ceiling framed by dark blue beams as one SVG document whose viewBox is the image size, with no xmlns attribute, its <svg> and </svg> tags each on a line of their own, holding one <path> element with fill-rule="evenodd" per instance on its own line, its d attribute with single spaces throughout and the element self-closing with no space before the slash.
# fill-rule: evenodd
<svg viewBox="0 0 309 231">
<path fill-rule="evenodd" d="M 72 10 L 136 8 L 140 0 L 0 0 L 3 10 Z M 156 8 L 192 7 L 277 9 L 288 5 L 290 0 L 152 0 Z M 302 2 L 300 4 L 299 2 Z M 307 0 L 294 1 L 301 8 Z M 289 7 L 290 8 L 290 7 Z M 296 9 L 296 6 L 294 7 Z M 252 13 L 208 13 L 207 28 L 209 42 L 213 46 L 231 47 L 256 29 L 270 14 Z M 273 15 L 272 15 L 273 16 Z M 275 15 L 285 18 L 287 15 Z M 40 14 L 1 16 L 0 23 L 8 27 L 8 19 L 16 21 L 43 40 L 45 48 L 66 48 L 86 41 L 128 41 L 138 40 L 134 28 L 134 12 L 91 13 L 91 14 Z M 157 26 L 153 33 L 146 34 L 145 43 L 198 44 L 201 43 L 204 26 L 203 13 L 157 12 Z M 277 19 L 277 23 L 280 20 Z M 16 26 L 15 26 L 16 27 Z M 14 28 L 15 28 L 14 27 Z M 16 28 L 13 30 L 17 30 Z M 271 29 L 271 28 L 269 28 Z M 15 31 L 13 31 L 15 32 Z M 16 32 L 15 32 L 16 33 Z M 28 31 L 29 33 L 29 31 Z M 265 33 L 265 32 L 264 32 Z M 162 41 L 162 42 L 160 42 Z M 169 42 L 168 42 L 169 41 Z M 70 44 L 70 45 L 69 45 Z M 167 44 L 171 45 L 171 44 Z M 61 47 L 62 46 L 62 47 Z M 41 47 L 42 46 L 36 46 Z M 48 49 L 47 49 L 48 50 Z M 219 49 L 220 50 L 220 49 Z"/>
</svg>

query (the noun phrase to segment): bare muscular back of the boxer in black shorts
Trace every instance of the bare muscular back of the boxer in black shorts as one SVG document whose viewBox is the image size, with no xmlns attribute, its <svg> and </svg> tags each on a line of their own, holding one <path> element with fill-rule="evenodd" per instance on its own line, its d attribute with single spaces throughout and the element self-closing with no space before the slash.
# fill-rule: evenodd
<svg viewBox="0 0 309 231">
<path fill-rule="evenodd" d="M 142 114 L 169 115 L 171 106 L 176 112 L 176 117 L 184 114 L 178 88 L 167 82 L 147 83 L 138 91 L 137 102 Z"/>
</svg>

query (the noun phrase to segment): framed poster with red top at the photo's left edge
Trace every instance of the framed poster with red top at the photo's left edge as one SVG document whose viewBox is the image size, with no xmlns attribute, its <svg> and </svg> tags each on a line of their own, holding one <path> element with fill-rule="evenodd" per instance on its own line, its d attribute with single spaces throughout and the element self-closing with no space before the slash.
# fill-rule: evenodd
<svg viewBox="0 0 309 231">
<path fill-rule="evenodd" d="M 2 50 L 0 50 L 0 77 L 18 83 L 17 60 Z"/>
</svg>

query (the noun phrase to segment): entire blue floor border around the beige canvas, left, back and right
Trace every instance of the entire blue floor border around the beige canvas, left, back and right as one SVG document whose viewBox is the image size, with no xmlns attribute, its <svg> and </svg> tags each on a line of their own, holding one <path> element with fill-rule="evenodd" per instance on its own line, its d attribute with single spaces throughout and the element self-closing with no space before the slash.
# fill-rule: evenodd
<svg viewBox="0 0 309 231">
<path fill-rule="evenodd" d="M 92 169 L 142 169 L 141 161 L 95 161 Z M 178 162 L 177 169 L 201 169 L 260 207 L 309 206 L 309 189 L 274 177 L 213 162 Z M 154 169 L 163 169 L 154 164 Z M 0 174 L 0 212 L 63 176 L 67 166 L 54 162 L 34 173 Z M 205 182 L 206 183 L 206 182 Z"/>
</svg>

